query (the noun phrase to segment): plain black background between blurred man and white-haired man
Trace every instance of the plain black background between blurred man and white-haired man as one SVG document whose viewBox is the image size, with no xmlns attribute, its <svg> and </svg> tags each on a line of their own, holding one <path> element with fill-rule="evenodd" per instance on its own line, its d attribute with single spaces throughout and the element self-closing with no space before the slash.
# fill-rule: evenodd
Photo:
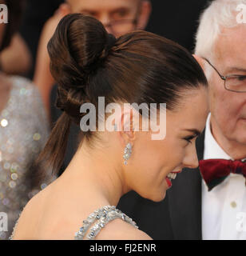
<svg viewBox="0 0 246 256">
<path fill-rule="evenodd" d="M 200 13 L 208 0 L 153 0 L 152 4 L 153 14 L 147 30 L 192 51 Z"/>
</svg>

